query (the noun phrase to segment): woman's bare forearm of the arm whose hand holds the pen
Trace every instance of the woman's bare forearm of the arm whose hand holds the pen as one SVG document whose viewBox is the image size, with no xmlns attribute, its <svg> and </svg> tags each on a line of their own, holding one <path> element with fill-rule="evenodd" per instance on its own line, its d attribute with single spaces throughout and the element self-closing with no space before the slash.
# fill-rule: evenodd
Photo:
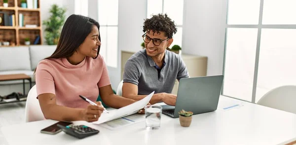
<svg viewBox="0 0 296 145">
<path fill-rule="evenodd" d="M 83 120 L 82 111 L 83 109 L 74 109 L 55 104 L 48 104 L 42 109 L 43 115 L 46 119 L 59 121 Z"/>
</svg>

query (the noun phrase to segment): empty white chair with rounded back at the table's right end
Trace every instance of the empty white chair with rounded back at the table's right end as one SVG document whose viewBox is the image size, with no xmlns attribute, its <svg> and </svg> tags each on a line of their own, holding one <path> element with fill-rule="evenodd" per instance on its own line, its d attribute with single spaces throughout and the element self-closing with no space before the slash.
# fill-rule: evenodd
<svg viewBox="0 0 296 145">
<path fill-rule="evenodd" d="M 287 85 L 267 92 L 257 104 L 296 113 L 296 86 Z"/>
</svg>

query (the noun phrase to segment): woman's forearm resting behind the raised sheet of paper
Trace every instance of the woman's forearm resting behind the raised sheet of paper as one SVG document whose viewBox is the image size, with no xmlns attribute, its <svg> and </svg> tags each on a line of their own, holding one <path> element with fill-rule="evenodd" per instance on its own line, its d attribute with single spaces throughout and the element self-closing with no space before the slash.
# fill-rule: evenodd
<svg viewBox="0 0 296 145">
<path fill-rule="evenodd" d="M 115 94 L 110 94 L 108 97 L 102 98 L 102 101 L 109 107 L 119 109 L 122 107 L 125 107 L 127 105 L 130 105 L 132 103 L 135 103 L 137 101 L 124 98 Z"/>
</svg>

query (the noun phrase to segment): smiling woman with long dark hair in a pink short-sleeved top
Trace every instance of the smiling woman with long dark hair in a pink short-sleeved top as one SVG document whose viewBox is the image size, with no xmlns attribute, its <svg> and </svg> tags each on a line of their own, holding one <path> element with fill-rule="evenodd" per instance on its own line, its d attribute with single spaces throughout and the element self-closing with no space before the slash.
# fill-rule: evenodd
<svg viewBox="0 0 296 145">
<path fill-rule="evenodd" d="M 136 101 L 113 93 L 106 64 L 99 55 L 100 25 L 94 19 L 71 15 L 65 22 L 56 50 L 36 69 L 37 99 L 46 119 L 97 121 L 104 108 L 121 108 Z"/>
</svg>

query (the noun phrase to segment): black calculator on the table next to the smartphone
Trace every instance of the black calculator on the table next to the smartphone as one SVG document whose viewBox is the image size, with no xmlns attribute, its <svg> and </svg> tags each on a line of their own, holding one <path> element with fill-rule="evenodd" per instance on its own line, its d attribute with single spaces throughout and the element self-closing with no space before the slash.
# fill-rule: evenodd
<svg viewBox="0 0 296 145">
<path fill-rule="evenodd" d="M 74 136 L 78 139 L 83 139 L 88 136 L 92 136 L 95 134 L 98 134 L 100 131 L 90 128 L 85 125 L 75 125 L 75 126 L 62 126 L 62 125 L 57 125 L 60 127 L 65 133 Z"/>
</svg>

